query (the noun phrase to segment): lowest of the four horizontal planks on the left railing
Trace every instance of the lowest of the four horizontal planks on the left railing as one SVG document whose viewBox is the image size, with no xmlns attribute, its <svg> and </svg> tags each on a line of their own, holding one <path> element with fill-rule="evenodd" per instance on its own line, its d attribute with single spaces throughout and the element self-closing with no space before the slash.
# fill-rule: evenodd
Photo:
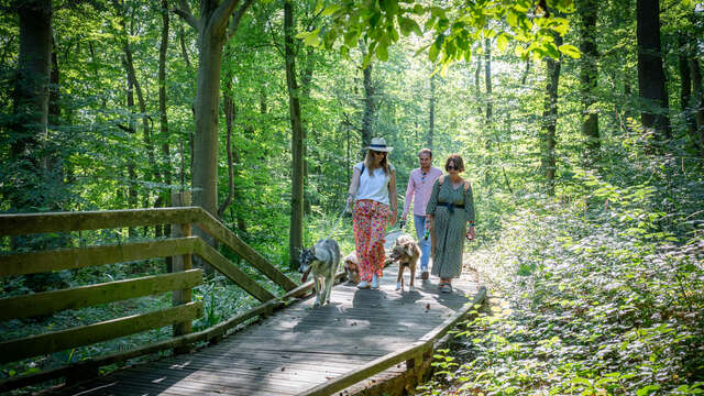
<svg viewBox="0 0 704 396">
<path fill-rule="evenodd" d="M 191 320 L 202 315 L 202 302 L 172 307 L 158 311 L 133 315 L 79 328 L 31 336 L 19 340 L 0 342 L 0 363 L 63 351 L 118 337 L 157 329 L 184 319 Z"/>
</svg>

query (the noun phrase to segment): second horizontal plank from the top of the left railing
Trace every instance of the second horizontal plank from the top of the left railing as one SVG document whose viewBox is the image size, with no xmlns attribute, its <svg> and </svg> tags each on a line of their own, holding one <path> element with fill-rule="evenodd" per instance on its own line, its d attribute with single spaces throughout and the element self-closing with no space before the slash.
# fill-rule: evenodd
<svg viewBox="0 0 704 396">
<path fill-rule="evenodd" d="M 198 238 L 0 255 L 0 276 L 36 274 L 193 253 Z"/>
</svg>

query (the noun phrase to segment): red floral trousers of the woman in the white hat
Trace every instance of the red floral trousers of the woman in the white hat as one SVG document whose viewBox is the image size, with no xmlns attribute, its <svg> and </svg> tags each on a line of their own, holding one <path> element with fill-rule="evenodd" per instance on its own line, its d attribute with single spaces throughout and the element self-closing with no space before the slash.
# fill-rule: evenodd
<svg viewBox="0 0 704 396">
<path fill-rule="evenodd" d="M 360 277 L 372 282 L 372 275 L 382 277 L 384 262 L 384 237 L 391 218 L 387 205 L 361 199 L 354 202 L 354 245 L 359 261 Z"/>
</svg>

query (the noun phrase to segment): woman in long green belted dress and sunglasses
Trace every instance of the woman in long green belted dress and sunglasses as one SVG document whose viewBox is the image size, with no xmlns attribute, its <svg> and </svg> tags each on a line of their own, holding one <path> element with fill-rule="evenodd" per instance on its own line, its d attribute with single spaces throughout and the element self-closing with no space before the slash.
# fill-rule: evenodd
<svg viewBox="0 0 704 396">
<path fill-rule="evenodd" d="M 476 231 L 472 186 L 460 176 L 464 172 L 462 157 L 450 155 L 444 169 L 448 176 L 440 176 L 432 186 L 426 224 L 433 232 L 432 275 L 440 277 L 442 293 L 451 293 L 452 278 L 462 272 L 464 239 L 473 240 Z"/>
</svg>

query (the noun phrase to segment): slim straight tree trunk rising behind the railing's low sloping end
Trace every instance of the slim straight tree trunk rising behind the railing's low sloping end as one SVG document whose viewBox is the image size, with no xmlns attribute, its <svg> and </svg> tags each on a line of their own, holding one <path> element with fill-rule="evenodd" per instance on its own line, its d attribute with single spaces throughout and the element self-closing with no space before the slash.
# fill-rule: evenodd
<svg viewBox="0 0 704 396">
<path fill-rule="evenodd" d="M 302 246 L 304 218 L 304 130 L 300 120 L 298 82 L 296 81 L 296 54 L 294 52 L 294 6 L 290 0 L 284 2 L 284 41 L 286 56 L 286 85 L 288 87 L 288 108 L 292 128 L 292 180 L 290 180 L 290 230 L 288 233 L 289 265 L 298 268 L 298 252 Z"/>
</svg>

